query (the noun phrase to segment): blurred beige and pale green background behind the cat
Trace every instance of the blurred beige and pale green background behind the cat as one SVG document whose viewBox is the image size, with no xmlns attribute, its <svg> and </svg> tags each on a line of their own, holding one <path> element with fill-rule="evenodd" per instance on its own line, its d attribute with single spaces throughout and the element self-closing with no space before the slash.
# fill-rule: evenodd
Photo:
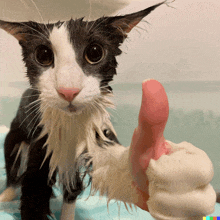
<svg viewBox="0 0 220 220">
<path fill-rule="evenodd" d="M 1 0 L 0 19 L 52 22 L 85 16 L 135 12 L 152 0 Z M 171 2 L 171 1 L 170 1 Z M 116 110 L 112 122 L 123 145 L 129 145 L 141 101 L 141 82 L 163 83 L 170 102 L 165 137 L 188 141 L 205 150 L 220 190 L 220 1 L 176 0 L 153 11 L 132 30 L 117 58 L 112 87 Z M 27 88 L 17 41 L 0 30 L 0 125 L 10 125 Z"/>
</svg>

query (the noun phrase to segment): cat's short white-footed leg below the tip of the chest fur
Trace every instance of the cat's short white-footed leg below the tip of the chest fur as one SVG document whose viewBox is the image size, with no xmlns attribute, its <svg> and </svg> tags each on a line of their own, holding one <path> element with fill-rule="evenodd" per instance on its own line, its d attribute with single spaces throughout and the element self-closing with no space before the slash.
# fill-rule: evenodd
<svg viewBox="0 0 220 220">
<path fill-rule="evenodd" d="M 74 220 L 75 205 L 78 195 L 83 191 L 83 181 L 80 178 L 80 173 L 76 172 L 75 186 L 70 183 L 68 186 L 64 185 L 63 206 L 61 212 L 61 220 Z"/>
</svg>

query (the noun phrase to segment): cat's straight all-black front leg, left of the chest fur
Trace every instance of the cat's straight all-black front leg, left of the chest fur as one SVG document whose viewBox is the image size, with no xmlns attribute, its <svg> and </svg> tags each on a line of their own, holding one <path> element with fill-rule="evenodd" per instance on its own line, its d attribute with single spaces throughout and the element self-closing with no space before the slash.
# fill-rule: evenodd
<svg viewBox="0 0 220 220">
<path fill-rule="evenodd" d="M 53 183 L 48 180 L 50 157 L 44 161 L 46 139 L 45 136 L 30 145 L 27 170 L 21 184 L 22 220 L 48 220 L 51 215 L 49 201 Z"/>
</svg>

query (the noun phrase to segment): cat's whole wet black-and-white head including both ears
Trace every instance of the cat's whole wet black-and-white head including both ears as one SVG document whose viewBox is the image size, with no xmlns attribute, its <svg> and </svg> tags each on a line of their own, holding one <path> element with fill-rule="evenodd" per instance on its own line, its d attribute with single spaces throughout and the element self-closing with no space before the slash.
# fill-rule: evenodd
<svg viewBox="0 0 220 220">
<path fill-rule="evenodd" d="M 163 2 L 164 3 L 164 2 Z M 0 21 L 22 47 L 27 77 L 50 107 L 76 112 L 94 98 L 111 92 L 115 57 L 127 34 L 157 8 L 125 16 L 41 24 Z"/>
</svg>

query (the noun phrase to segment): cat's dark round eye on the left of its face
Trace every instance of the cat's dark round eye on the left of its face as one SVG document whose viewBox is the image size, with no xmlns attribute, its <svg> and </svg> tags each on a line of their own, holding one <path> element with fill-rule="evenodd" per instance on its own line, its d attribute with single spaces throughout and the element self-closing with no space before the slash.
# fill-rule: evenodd
<svg viewBox="0 0 220 220">
<path fill-rule="evenodd" d="M 53 51 L 49 47 L 40 45 L 35 49 L 35 60 L 41 66 L 50 66 L 53 59 Z"/>
</svg>

